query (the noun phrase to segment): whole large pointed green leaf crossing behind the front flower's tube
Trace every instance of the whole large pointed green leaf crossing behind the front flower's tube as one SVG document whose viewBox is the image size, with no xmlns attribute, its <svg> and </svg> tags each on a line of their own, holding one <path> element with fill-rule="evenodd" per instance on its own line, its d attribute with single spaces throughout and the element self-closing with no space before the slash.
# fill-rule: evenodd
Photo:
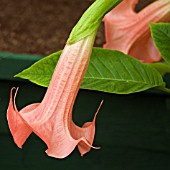
<svg viewBox="0 0 170 170">
<path fill-rule="evenodd" d="M 45 57 L 16 76 L 47 87 L 60 54 Z M 93 48 L 80 88 L 129 94 L 163 85 L 161 75 L 151 66 L 118 51 Z"/>
</svg>

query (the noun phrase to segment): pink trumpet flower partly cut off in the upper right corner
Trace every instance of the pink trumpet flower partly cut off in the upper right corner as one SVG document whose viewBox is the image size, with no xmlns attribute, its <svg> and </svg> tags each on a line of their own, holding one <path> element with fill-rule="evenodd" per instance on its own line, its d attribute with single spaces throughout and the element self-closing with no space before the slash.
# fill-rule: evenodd
<svg viewBox="0 0 170 170">
<path fill-rule="evenodd" d="M 139 13 L 134 11 L 138 0 L 124 0 L 104 18 L 104 48 L 119 50 L 142 62 L 161 59 L 151 38 L 149 22 L 170 21 L 170 0 L 157 0 Z"/>
</svg>

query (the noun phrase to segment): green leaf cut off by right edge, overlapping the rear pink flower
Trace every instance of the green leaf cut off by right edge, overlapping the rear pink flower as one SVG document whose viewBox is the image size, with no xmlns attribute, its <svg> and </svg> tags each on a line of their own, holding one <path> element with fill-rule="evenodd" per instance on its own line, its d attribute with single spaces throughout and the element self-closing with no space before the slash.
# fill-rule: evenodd
<svg viewBox="0 0 170 170">
<path fill-rule="evenodd" d="M 170 64 L 170 24 L 150 24 L 151 34 L 163 59 Z"/>
</svg>

